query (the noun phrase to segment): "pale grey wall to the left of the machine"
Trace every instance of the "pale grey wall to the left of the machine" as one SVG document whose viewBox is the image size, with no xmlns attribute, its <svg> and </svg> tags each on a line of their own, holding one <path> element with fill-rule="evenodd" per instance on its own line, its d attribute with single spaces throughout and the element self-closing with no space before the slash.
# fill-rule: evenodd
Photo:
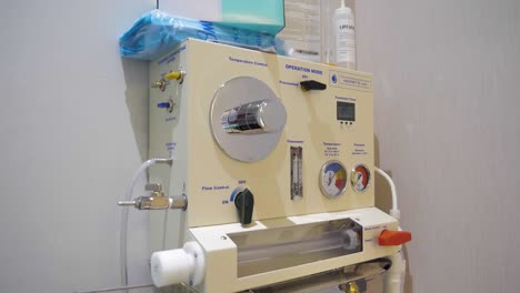
<svg viewBox="0 0 520 293">
<path fill-rule="evenodd" d="M 153 4 L 1 2 L 0 292 L 120 284 L 116 202 L 147 153 L 148 72 L 117 41 Z M 130 280 L 149 283 L 147 218 L 131 219 Z"/>
</svg>

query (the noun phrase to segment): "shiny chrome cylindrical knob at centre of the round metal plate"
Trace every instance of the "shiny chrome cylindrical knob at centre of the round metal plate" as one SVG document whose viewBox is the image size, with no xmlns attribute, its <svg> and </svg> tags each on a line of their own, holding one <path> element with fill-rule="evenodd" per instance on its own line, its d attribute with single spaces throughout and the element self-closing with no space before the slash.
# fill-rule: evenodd
<svg viewBox="0 0 520 293">
<path fill-rule="evenodd" d="M 283 129 L 286 122 L 286 107 L 280 99 L 242 104 L 221 115 L 222 129 L 228 133 L 277 132 Z"/>
</svg>

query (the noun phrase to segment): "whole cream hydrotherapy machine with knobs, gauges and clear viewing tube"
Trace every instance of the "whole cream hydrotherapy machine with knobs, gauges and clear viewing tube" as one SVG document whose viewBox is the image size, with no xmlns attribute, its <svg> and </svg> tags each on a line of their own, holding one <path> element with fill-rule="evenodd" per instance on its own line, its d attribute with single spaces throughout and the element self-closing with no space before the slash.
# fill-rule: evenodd
<svg viewBox="0 0 520 293">
<path fill-rule="evenodd" d="M 150 215 L 157 286 L 381 290 L 411 236 L 373 206 L 370 74 L 190 39 L 150 80 L 163 159 L 150 195 L 121 204 L 164 210 Z"/>
</svg>

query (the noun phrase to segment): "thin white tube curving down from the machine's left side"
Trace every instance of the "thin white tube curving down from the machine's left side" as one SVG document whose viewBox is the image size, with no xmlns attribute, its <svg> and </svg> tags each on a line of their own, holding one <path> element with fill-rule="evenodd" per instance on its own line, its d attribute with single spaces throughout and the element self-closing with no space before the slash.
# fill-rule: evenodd
<svg viewBox="0 0 520 293">
<path fill-rule="evenodd" d="M 139 166 L 139 169 L 133 173 L 132 181 L 130 181 L 130 184 L 127 186 L 127 190 L 124 192 L 124 201 L 130 201 L 132 200 L 132 193 L 133 193 L 133 188 L 136 186 L 137 181 L 139 178 L 147 171 L 148 168 L 156 163 L 167 163 L 171 164 L 173 162 L 173 159 L 150 159 L 146 161 L 144 163 Z M 119 252 L 120 252 L 120 257 L 119 257 L 119 264 L 120 264 L 120 270 L 121 270 L 121 285 L 127 286 L 128 285 L 128 243 L 127 243 L 127 236 L 128 236 L 128 214 L 129 214 L 129 209 L 123 208 L 121 212 L 121 229 L 120 229 L 120 234 L 119 234 Z"/>
</svg>

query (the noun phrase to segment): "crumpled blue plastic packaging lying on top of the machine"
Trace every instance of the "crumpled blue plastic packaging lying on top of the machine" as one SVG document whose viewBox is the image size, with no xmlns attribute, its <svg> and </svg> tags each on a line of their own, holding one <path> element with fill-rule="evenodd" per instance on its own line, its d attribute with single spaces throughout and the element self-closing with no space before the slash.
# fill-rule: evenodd
<svg viewBox="0 0 520 293">
<path fill-rule="evenodd" d="M 286 54 L 283 42 L 273 36 L 210 21 L 172 17 L 160 10 L 142 16 L 119 39 L 119 51 L 123 57 L 152 60 L 188 38 Z"/>
</svg>

